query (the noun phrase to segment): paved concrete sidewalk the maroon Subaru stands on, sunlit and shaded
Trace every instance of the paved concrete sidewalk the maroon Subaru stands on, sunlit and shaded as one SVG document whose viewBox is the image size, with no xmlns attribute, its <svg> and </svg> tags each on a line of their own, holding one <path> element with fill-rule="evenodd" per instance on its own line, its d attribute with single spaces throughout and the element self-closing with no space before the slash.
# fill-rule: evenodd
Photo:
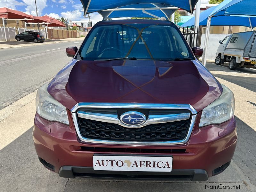
<svg viewBox="0 0 256 192">
<path fill-rule="evenodd" d="M 0 110 L 0 191 L 256 191 L 255 138 L 256 105 L 249 101 L 255 92 L 223 79 L 229 69 L 212 65 L 209 70 L 220 83 L 230 88 L 236 98 L 238 143 L 230 166 L 220 175 L 204 182 L 168 181 L 110 181 L 66 179 L 45 169 L 37 159 L 32 140 L 33 120 L 36 112 L 36 91 Z M 215 70 L 215 67 L 218 70 Z M 227 75 L 227 74 L 226 74 Z M 254 75 L 228 73 L 228 75 L 254 79 Z M 220 77 L 220 78 L 219 78 Z M 236 189 L 216 189 L 216 186 L 235 186 Z M 210 188 L 208 188 L 209 186 Z"/>
</svg>

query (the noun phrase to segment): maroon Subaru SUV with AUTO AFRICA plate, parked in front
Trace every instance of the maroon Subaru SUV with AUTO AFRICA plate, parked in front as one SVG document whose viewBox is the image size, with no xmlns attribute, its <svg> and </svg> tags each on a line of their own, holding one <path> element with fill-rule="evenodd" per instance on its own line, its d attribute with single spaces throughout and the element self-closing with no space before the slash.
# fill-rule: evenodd
<svg viewBox="0 0 256 192">
<path fill-rule="evenodd" d="M 208 180 L 236 148 L 235 100 L 164 20 L 108 20 L 36 96 L 33 139 L 60 177 Z"/>
</svg>

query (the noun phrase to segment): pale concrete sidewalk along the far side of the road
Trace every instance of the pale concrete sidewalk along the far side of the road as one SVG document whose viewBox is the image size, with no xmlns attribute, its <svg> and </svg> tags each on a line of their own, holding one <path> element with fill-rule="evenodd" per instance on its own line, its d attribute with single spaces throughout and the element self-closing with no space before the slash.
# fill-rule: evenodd
<svg viewBox="0 0 256 192">
<path fill-rule="evenodd" d="M 46 39 L 44 43 L 34 43 L 29 41 L 0 41 L 0 49 L 45 45 L 45 44 L 62 43 L 62 42 L 68 42 L 68 41 L 82 41 L 82 40 L 84 40 L 84 37 L 75 37 L 75 38 L 66 38 L 66 39 Z"/>
</svg>

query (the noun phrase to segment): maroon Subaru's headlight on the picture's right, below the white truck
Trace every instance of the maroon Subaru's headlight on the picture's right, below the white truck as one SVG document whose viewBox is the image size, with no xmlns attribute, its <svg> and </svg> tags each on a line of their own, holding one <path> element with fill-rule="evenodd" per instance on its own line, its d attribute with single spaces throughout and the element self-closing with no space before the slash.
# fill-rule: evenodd
<svg viewBox="0 0 256 192">
<path fill-rule="evenodd" d="M 220 97 L 203 109 L 199 127 L 223 123 L 234 115 L 234 94 L 225 85 L 222 84 L 222 87 L 223 92 Z"/>
</svg>

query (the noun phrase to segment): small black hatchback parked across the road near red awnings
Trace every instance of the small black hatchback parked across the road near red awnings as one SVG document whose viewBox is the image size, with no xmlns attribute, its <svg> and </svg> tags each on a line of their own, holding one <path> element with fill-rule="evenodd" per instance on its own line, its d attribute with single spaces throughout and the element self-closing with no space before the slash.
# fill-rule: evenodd
<svg viewBox="0 0 256 192">
<path fill-rule="evenodd" d="M 34 41 L 35 43 L 38 43 L 38 41 L 43 43 L 45 40 L 43 33 L 38 33 L 38 32 L 34 32 L 34 31 L 25 31 L 23 33 L 20 33 L 15 36 L 15 39 L 17 41 L 20 41 L 20 40 Z"/>
</svg>

